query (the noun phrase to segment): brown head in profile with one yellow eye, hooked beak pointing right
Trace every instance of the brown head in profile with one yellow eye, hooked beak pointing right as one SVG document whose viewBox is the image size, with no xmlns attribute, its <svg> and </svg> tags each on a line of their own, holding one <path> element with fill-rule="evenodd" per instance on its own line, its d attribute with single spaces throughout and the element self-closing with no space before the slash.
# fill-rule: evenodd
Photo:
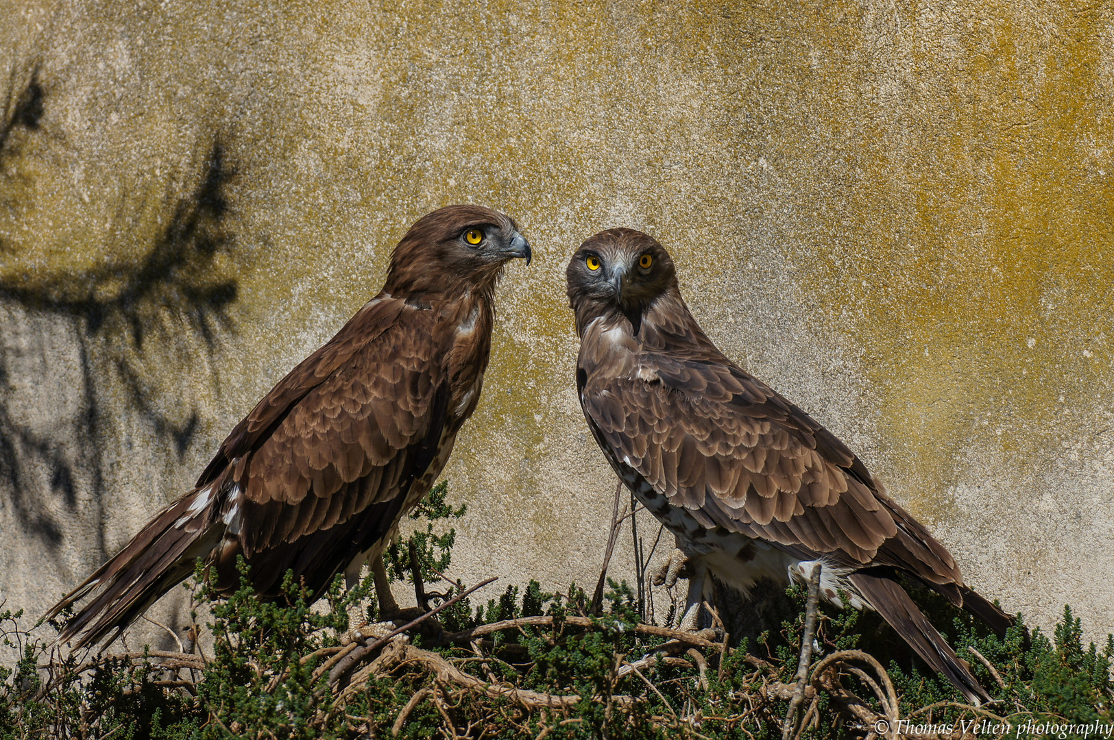
<svg viewBox="0 0 1114 740">
<path fill-rule="evenodd" d="M 490 292 L 515 257 L 530 264 L 530 244 L 506 214 L 446 206 L 422 216 L 391 255 L 383 289 L 395 297 Z"/>
</svg>

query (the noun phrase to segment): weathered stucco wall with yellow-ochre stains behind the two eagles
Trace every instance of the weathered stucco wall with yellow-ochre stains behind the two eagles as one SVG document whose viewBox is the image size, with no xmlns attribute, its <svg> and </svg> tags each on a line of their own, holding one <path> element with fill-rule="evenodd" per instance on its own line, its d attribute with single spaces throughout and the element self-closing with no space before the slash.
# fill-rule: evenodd
<svg viewBox="0 0 1114 740">
<path fill-rule="evenodd" d="M 185 492 L 407 227 L 472 201 L 536 258 L 446 472 L 456 573 L 596 578 L 615 478 L 564 268 L 628 226 L 971 584 L 1114 630 L 1110 4 L 0 6 L 9 605 Z"/>
</svg>

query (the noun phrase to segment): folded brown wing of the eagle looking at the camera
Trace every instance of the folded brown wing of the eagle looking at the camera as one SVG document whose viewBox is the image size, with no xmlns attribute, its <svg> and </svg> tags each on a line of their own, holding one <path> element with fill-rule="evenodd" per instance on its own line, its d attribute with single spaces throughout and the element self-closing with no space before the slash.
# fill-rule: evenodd
<svg viewBox="0 0 1114 740">
<path fill-rule="evenodd" d="M 582 404 L 615 458 L 672 504 L 802 554 L 961 583 L 947 550 L 861 461 L 769 386 L 722 356 L 643 352 L 638 363 L 659 379 L 594 373 Z"/>
</svg>

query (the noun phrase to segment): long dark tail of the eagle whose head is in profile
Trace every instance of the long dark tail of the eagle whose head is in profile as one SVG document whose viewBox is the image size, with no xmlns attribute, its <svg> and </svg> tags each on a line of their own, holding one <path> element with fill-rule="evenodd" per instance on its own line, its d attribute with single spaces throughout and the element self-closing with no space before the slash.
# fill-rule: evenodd
<svg viewBox="0 0 1114 740">
<path fill-rule="evenodd" d="M 215 524 L 213 486 L 193 491 L 156 515 L 131 541 L 43 619 L 57 616 L 90 593 L 99 593 L 67 622 L 56 642 L 74 650 L 119 637 L 136 618 L 212 552 L 223 527 Z M 218 531 L 219 530 L 219 531 Z M 76 639 L 75 639 L 76 638 Z"/>
</svg>

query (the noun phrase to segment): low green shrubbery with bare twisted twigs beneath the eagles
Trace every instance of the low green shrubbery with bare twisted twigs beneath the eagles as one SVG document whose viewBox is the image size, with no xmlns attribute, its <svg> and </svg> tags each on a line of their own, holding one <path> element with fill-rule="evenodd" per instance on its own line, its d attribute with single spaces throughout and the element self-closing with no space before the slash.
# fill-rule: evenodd
<svg viewBox="0 0 1114 740">
<path fill-rule="evenodd" d="M 395 579 L 433 582 L 449 570 L 455 531 L 447 525 L 465 511 L 446 497 L 442 483 L 419 510 L 414 534 L 390 551 Z M 240 590 L 218 601 L 198 570 L 190 588 L 212 604 L 213 618 L 213 653 L 204 658 L 149 650 L 51 657 L 47 638 L 22 626 L 22 613 L 3 611 L 0 635 L 10 668 L 0 668 L 0 740 L 780 738 L 804 621 L 804 590 L 791 588 L 786 593 L 800 614 L 780 629 L 730 648 L 690 649 L 675 635 L 639 625 L 636 591 L 625 582 L 608 581 L 606 606 L 593 616 L 590 598 L 577 585 L 548 592 L 530 581 L 483 603 L 463 598 L 447 608 L 438 615 L 440 640 L 412 638 L 421 660 L 391 663 L 390 648 L 383 648 L 361 664 L 362 673 L 331 682 L 330 668 L 350 649 L 349 614 L 368 601 L 370 579 L 346 593 L 338 579 L 314 605 L 292 576 L 284 582 L 285 598 L 270 603 L 255 598 L 246 576 L 242 565 Z M 459 580 L 448 583 L 430 594 L 431 603 L 463 591 Z M 1051 635 L 1034 629 L 1027 640 L 1019 620 L 998 638 L 942 600 L 912 592 L 998 701 L 978 712 L 965 707 L 876 614 L 823 606 L 814 661 L 837 651 L 870 653 L 885 665 L 903 718 L 937 724 L 986 717 L 1014 726 L 1114 722 L 1114 637 L 1102 648 L 1085 647 L 1082 622 L 1069 608 Z M 507 629 L 485 626 L 508 620 L 516 622 Z M 641 668 L 632 670 L 632 663 Z M 839 681 L 885 716 L 864 675 L 842 670 Z M 565 703 L 544 706 L 554 697 Z M 829 692 L 814 697 L 800 737 L 869 732 Z"/>
</svg>

